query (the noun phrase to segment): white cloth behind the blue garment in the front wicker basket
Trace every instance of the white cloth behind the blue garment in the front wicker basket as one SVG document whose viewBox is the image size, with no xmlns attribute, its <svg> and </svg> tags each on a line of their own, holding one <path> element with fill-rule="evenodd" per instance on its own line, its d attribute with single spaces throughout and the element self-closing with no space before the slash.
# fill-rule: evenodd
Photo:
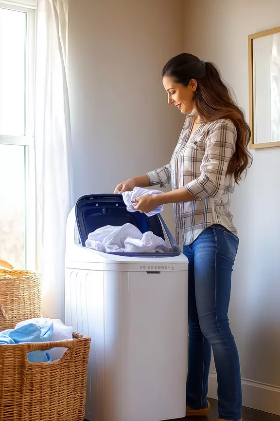
<svg viewBox="0 0 280 421">
<path fill-rule="evenodd" d="M 20 327 L 29 323 L 34 323 L 35 325 L 40 325 L 42 323 L 53 323 L 53 334 L 50 337 L 48 342 L 56 342 L 56 341 L 66 341 L 72 339 L 73 334 L 73 327 L 66 326 L 64 323 L 59 319 L 48 319 L 46 317 L 39 317 L 35 319 L 24 320 L 23 322 L 19 322 L 16 327 Z M 59 360 L 67 348 L 52 348 L 48 350 L 48 354 L 52 357 L 52 361 Z"/>
</svg>

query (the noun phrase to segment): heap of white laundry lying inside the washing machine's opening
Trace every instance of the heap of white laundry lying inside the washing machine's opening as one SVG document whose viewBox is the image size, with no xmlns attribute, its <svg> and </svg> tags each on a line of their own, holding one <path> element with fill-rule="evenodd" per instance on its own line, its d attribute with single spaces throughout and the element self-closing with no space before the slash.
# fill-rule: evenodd
<svg viewBox="0 0 280 421">
<path fill-rule="evenodd" d="M 141 233 L 138 228 L 132 224 L 124 224 L 122 227 L 113 227 L 106 225 L 94 232 L 88 234 L 86 247 L 110 252 L 150 252 L 168 251 L 168 244 L 162 238 L 157 237 L 153 232 Z"/>
</svg>

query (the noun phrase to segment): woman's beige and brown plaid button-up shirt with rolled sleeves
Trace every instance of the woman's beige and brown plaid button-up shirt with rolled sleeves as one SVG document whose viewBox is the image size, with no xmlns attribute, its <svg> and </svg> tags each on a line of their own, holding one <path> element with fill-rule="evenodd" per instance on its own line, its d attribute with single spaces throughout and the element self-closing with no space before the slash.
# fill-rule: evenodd
<svg viewBox="0 0 280 421">
<path fill-rule="evenodd" d="M 176 240 L 179 231 L 183 245 L 191 244 L 213 224 L 238 235 L 229 211 L 234 177 L 226 176 L 235 151 L 236 128 L 229 120 L 201 124 L 193 134 L 192 117 L 187 115 L 170 164 L 148 172 L 150 186 L 172 190 L 185 187 L 196 200 L 174 204 Z"/>
</svg>

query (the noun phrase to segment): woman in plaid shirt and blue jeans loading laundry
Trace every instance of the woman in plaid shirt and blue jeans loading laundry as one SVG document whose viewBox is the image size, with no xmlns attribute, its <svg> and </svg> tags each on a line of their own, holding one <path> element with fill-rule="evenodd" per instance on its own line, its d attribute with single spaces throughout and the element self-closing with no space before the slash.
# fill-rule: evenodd
<svg viewBox="0 0 280 421">
<path fill-rule="evenodd" d="M 211 347 L 218 380 L 218 420 L 242 420 L 237 347 L 227 312 L 238 233 L 230 194 L 249 165 L 250 129 L 212 63 L 191 54 L 172 58 L 162 70 L 168 103 L 186 114 L 170 164 L 127 180 L 115 193 L 172 184 L 172 191 L 138 197 L 135 209 L 149 212 L 174 203 L 176 239 L 181 233 L 189 260 L 189 369 L 186 415 L 203 416 Z"/>
</svg>

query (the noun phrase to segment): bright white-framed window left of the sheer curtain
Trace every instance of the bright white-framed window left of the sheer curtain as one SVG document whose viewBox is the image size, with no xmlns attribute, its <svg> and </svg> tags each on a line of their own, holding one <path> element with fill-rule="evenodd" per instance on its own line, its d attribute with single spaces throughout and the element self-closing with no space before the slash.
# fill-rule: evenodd
<svg viewBox="0 0 280 421">
<path fill-rule="evenodd" d="M 0 1 L 0 259 L 15 268 L 34 267 L 34 22 Z"/>
</svg>

